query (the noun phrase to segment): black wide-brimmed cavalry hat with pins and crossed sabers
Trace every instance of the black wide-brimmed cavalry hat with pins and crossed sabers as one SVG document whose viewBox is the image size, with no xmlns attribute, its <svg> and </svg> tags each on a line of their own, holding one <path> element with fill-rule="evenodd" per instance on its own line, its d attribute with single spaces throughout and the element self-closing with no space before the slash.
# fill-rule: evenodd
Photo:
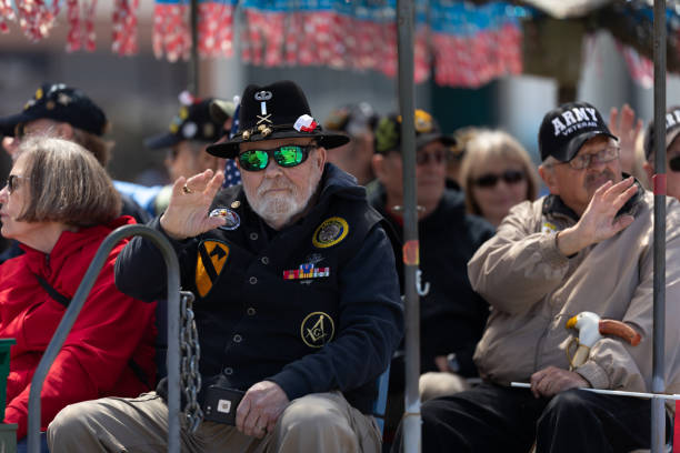
<svg viewBox="0 0 680 453">
<path fill-rule="evenodd" d="M 238 132 L 207 151 L 219 158 L 234 158 L 239 143 L 288 138 L 313 138 L 326 149 L 349 142 L 343 133 L 323 131 L 312 118 L 300 87 L 283 80 L 266 87 L 248 85 L 241 97 Z"/>
</svg>

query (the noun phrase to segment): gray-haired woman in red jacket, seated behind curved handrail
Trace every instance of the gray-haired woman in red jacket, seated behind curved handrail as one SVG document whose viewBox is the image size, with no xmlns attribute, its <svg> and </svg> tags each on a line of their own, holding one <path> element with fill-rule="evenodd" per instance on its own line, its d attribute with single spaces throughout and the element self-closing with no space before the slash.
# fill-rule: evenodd
<svg viewBox="0 0 680 453">
<path fill-rule="evenodd" d="M 26 436 L 30 382 L 69 301 L 103 239 L 134 223 L 94 157 L 53 138 L 22 142 L 0 190 L 2 235 L 24 254 L 0 265 L 0 338 L 13 338 L 4 423 Z M 154 309 L 116 289 L 109 254 L 42 389 L 42 429 L 66 405 L 137 396 L 154 384 Z"/>
</svg>

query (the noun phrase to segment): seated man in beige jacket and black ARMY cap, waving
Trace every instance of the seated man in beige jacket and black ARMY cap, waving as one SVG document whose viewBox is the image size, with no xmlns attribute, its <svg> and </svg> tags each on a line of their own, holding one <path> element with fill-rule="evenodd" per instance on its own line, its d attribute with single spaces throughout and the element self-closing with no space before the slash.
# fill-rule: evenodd
<svg viewBox="0 0 680 453">
<path fill-rule="evenodd" d="M 539 148 L 550 194 L 512 208 L 468 263 L 473 290 L 492 308 L 474 352 L 483 383 L 422 405 L 423 451 L 650 447 L 650 400 L 580 389 L 651 392 L 653 195 L 622 175 L 618 141 L 587 102 L 549 111 Z M 667 213 L 666 254 L 674 263 L 677 200 L 667 201 Z M 667 268 L 669 301 L 680 299 L 679 279 L 680 266 Z M 666 309 L 676 325 L 680 304 Z M 591 329 L 598 334 L 589 342 Z M 579 341 L 583 353 L 574 354 Z M 666 330 L 673 345 L 666 393 L 680 390 L 679 341 L 677 329 Z"/>
</svg>

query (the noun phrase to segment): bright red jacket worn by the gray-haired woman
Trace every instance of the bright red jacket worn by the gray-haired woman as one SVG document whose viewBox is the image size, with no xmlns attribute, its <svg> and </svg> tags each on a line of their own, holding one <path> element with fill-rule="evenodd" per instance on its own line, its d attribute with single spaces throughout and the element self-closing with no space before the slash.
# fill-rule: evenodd
<svg viewBox="0 0 680 453">
<path fill-rule="evenodd" d="M 0 338 L 17 340 L 10 350 L 4 422 L 18 423 L 18 439 L 26 436 L 31 379 L 66 311 L 36 275 L 72 299 L 103 239 L 126 223 L 134 220 L 122 217 L 108 225 L 64 231 L 49 255 L 22 245 L 24 254 L 0 265 Z M 113 264 L 124 243 L 109 254 L 47 375 L 42 430 L 68 404 L 109 395 L 137 396 L 154 384 L 156 303 L 129 298 L 113 283 Z M 143 373 L 136 374 L 134 364 Z"/>
</svg>

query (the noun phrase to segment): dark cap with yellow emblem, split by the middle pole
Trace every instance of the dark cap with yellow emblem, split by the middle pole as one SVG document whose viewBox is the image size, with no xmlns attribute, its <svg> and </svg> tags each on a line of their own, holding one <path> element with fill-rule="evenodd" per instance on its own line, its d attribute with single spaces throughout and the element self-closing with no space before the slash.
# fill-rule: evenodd
<svg viewBox="0 0 680 453">
<path fill-rule="evenodd" d="M 441 141 L 446 147 L 456 144 L 456 139 L 443 134 L 437 120 L 424 110 L 416 110 L 413 120 L 416 125 L 416 149 L 436 140 Z M 392 113 L 381 118 L 378 121 L 374 133 L 377 153 L 386 154 L 389 151 L 400 151 L 401 115 Z"/>
</svg>

